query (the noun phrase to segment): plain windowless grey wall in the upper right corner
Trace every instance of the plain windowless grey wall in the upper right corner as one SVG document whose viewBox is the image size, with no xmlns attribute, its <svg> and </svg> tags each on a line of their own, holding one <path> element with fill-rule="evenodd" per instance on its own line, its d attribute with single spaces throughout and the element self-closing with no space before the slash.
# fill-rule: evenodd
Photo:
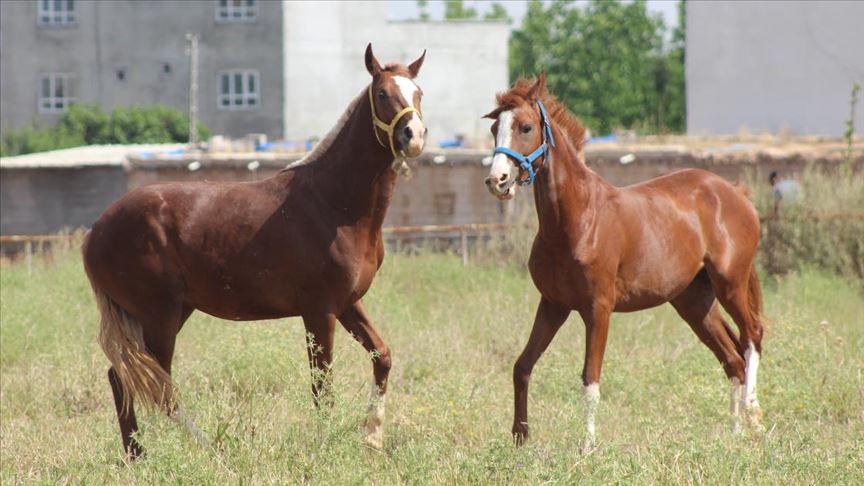
<svg viewBox="0 0 864 486">
<path fill-rule="evenodd" d="M 862 19 L 864 2 L 687 2 L 688 133 L 842 135 L 864 86 Z"/>
</svg>

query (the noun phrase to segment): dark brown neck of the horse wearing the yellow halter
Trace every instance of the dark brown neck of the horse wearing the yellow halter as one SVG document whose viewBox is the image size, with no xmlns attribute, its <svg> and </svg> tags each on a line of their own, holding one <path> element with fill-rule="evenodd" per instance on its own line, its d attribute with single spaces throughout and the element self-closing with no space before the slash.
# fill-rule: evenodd
<svg viewBox="0 0 864 486">
<path fill-rule="evenodd" d="M 350 221 L 378 229 L 384 222 L 397 173 L 389 147 L 382 147 L 375 138 L 366 90 L 360 96 L 348 120 L 332 140 L 327 140 L 329 146 L 319 155 L 313 154 L 302 169 L 308 177 L 307 187 L 326 205 Z"/>
</svg>

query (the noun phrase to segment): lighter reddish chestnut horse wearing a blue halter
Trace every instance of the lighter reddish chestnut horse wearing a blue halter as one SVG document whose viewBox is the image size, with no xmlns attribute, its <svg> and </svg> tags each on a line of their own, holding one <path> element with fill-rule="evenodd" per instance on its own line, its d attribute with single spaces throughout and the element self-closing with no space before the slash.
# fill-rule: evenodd
<svg viewBox="0 0 864 486">
<path fill-rule="evenodd" d="M 744 191 L 692 169 L 628 187 L 610 185 L 585 165 L 585 129 L 546 92 L 542 75 L 534 83 L 519 80 L 497 96 L 497 105 L 486 115 L 496 120 L 497 145 L 486 185 L 494 196 L 510 199 L 517 184 L 535 182 L 539 219 L 528 265 L 540 305 L 513 369 L 517 444 L 528 435 L 531 370 L 571 311 L 585 322 L 582 384 L 590 449 L 610 314 L 665 302 L 723 364 L 732 382 L 733 429 L 740 430 L 742 408 L 758 425 L 759 217 Z M 724 322 L 720 305 L 740 337 Z"/>
</svg>

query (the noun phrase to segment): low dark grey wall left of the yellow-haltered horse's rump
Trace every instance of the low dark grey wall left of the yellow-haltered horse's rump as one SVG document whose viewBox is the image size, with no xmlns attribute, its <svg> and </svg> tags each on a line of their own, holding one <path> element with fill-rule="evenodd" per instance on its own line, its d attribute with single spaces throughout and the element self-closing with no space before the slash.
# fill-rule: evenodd
<svg viewBox="0 0 864 486">
<path fill-rule="evenodd" d="M 51 234 L 89 227 L 126 193 L 122 166 L 3 169 L 0 234 Z"/>
</svg>

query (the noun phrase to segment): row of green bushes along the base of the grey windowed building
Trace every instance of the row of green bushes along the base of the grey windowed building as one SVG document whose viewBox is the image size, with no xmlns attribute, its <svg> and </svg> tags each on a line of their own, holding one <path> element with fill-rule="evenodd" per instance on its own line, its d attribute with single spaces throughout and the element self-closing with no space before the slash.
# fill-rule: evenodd
<svg viewBox="0 0 864 486">
<path fill-rule="evenodd" d="M 199 140 L 210 130 L 198 124 Z M 162 105 L 116 108 L 110 115 L 96 105 L 75 104 L 51 127 L 25 126 L 4 133 L 4 157 L 80 145 L 130 143 L 182 143 L 189 140 L 188 116 Z"/>
</svg>

